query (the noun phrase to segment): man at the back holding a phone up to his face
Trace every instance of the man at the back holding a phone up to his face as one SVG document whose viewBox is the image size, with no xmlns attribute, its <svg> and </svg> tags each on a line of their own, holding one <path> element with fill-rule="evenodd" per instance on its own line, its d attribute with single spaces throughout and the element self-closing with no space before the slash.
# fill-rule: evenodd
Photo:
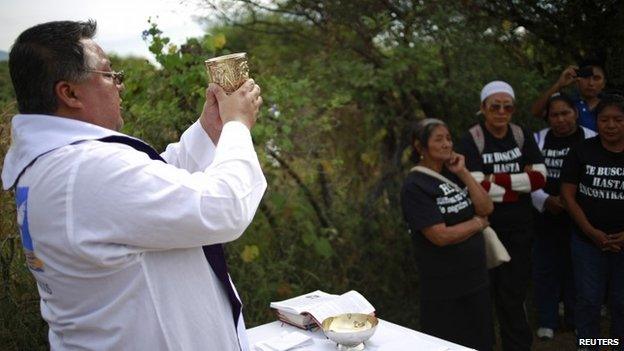
<svg viewBox="0 0 624 351">
<path fill-rule="evenodd" d="M 533 103 L 531 113 L 535 117 L 544 118 L 548 98 L 574 82 L 576 82 L 578 90 L 575 105 L 579 114 L 579 124 L 596 131 L 596 113 L 594 108 L 600 102 L 600 94 L 606 84 L 604 68 L 597 60 L 585 60 L 578 66 L 568 66 L 561 72 L 555 84 L 544 91 Z"/>
</svg>

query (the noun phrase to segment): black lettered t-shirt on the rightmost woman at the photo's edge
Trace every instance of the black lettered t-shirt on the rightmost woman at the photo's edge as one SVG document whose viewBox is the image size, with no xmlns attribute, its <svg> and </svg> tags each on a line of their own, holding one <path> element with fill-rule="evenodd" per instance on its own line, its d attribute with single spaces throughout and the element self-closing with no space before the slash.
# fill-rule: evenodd
<svg viewBox="0 0 624 351">
<path fill-rule="evenodd" d="M 577 185 L 576 201 L 594 228 L 624 231 L 624 152 L 605 149 L 599 136 L 585 139 L 568 153 L 560 180 Z"/>
</svg>

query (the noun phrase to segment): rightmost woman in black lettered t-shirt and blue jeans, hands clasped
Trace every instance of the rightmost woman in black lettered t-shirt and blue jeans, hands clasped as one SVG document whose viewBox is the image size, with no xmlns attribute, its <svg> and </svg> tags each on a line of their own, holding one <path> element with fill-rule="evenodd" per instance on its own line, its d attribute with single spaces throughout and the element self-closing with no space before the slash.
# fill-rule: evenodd
<svg viewBox="0 0 624 351">
<path fill-rule="evenodd" d="M 619 338 L 621 349 L 624 345 L 624 98 L 605 95 L 596 106 L 596 113 L 598 136 L 570 151 L 564 161 L 561 197 L 575 224 L 571 246 L 577 337 L 579 342 L 600 338 L 600 307 L 609 286 L 611 337 Z M 597 346 L 587 348 L 594 347 Z"/>
</svg>

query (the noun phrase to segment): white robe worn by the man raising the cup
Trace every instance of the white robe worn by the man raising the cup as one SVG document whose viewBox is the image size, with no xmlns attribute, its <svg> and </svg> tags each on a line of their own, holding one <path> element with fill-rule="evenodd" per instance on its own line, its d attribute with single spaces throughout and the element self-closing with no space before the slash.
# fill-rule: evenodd
<svg viewBox="0 0 624 351">
<path fill-rule="evenodd" d="M 218 146 L 199 122 L 161 155 L 123 135 L 45 115 L 17 115 L 2 182 L 53 350 L 246 350 L 202 245 L 238 238 L 266 180 L 247 127 Z M 21 176 L 20 176 L 21 175 Z M 237 333 L 238 330 L 238 333 Z"/>
</svg>

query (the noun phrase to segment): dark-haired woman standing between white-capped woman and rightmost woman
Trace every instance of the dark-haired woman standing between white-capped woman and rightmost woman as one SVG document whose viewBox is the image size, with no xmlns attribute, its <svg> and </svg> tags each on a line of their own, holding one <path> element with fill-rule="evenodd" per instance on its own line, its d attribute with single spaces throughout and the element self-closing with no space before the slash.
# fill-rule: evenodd
<svg viewBox="0 0 624 351">
<path fill-rule="evenodd" d="M 596 133 L 577 124 L 574 100 L 564 94 L 546 102 L 549 127 L 535 133 L 544 156 L 547 177 L 544 189 L 531 194 L 537 210 L 533 246 L 533 280 L 539 328 L 537 336 L 552 339 L 559 326 L 559 300 L 565 307 L 565 323 L 574 326 L 574 279 L 570 258 L 571 219 L 559 197 L 559 175 L 571 148 Z"/>
</svg>

